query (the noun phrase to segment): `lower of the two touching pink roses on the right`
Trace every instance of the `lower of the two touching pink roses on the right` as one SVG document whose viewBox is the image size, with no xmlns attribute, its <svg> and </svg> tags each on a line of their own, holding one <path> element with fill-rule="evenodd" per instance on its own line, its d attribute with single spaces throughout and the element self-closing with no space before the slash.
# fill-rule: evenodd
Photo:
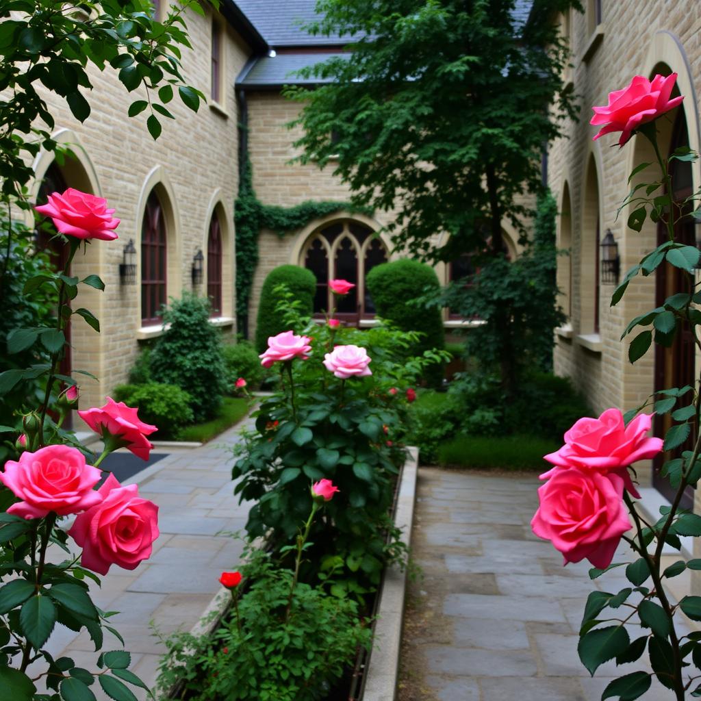
<svg viewBox="0 0 701 701">
<path fill-rule="evenodd" d="M 594 567 L 605 569 L 620 537 L 632 528 L 622 494 L 618 475 L 560 470 L 538 489 L 540 507 L 531 529 L 562 552 L 564 564 L 586 557 Z"/>
</svg>

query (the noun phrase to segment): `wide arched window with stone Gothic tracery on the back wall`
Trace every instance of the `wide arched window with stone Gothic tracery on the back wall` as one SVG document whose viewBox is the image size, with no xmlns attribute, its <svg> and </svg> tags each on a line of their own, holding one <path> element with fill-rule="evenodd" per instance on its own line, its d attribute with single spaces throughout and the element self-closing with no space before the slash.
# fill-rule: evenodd
<svg viewBox="0 0 701 701">
<path fill-rule="evenodd" d="M 302 260 L 316 276 L 314 313 L 320 315 L 336 306 L 336 316 L 353 323 L 374 315 L 372 299 L 365 289 L 365 276 L 387 259 L 382 241 L 359 222 L 334 222 L 313 234 L 304 246 Z M 334 278 L 348 280 L 355 287 L 344 297 L 332 300 L 328 283 Z"/>
</svg>

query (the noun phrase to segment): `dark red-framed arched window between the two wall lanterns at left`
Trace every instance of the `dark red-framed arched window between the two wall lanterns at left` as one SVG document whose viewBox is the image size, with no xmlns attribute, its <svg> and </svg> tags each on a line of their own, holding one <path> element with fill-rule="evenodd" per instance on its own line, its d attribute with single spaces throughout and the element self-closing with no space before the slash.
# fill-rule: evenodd
<svg viewBox="0 0 701 701">
<path fill-rule="evenodd" d="M 156 324 L 165 304 L 166 232 L 163 207 L 151 191 L 141 228 L 141 320 Z"/>
</svg>

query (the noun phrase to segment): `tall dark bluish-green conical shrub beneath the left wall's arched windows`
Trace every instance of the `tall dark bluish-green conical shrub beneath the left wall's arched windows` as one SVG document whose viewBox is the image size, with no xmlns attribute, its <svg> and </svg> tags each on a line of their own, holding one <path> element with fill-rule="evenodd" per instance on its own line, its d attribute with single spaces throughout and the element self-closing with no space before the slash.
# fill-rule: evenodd
<svg viewBox="0 0 701 701">
<path fill-rule="evenodd" d="M 185 390 L 194 420 L 205 421 L 214 416 L 226 389 L 222 339 L 210 324 L 210 303 L 189 293 L 172 299 L 163 323 L 170 328 L 151 350 L 151 376 Z"/>
</svg>

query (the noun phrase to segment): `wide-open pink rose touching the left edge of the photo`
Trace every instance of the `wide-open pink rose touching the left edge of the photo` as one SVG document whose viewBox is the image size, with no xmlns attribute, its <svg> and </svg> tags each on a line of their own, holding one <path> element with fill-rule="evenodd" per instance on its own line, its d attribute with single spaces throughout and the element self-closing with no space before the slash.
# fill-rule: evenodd
<svg viewBox="0 0 701 701">
<path fill-rule="evenodd" d="M 102 497 L 93 487 L 101 475 L 102 470 L 86 465 L 79 449 L 48 445 L 35 453 L 25 451 L 16 462 L 8 460 L 0 482 L 22 499 L 8 514 L 39 519 L 51 511 L 65 516 L 100 503 Z"/>
</svg>

